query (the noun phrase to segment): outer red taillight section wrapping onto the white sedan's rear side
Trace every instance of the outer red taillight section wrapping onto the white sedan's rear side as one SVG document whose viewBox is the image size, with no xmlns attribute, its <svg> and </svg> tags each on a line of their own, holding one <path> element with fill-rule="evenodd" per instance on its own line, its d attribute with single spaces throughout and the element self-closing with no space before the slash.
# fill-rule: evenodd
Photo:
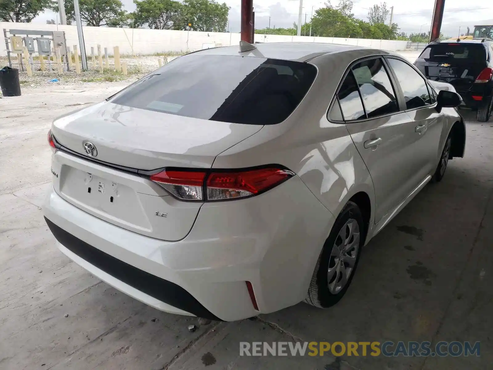
<svg viewBox="0 0 493 370">
<path fill-rule="evenodd" d="M 256 195 L 281 184 L 293 174 L 279 168 L 239 172 L 212 172 L 207 178 L 207 199 L 222 200 Z"/>
</svg>

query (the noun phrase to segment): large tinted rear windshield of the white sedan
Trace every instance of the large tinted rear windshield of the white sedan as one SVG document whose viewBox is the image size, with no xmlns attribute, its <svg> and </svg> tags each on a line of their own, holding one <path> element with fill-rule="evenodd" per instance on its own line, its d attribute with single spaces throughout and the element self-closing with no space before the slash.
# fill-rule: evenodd
<svg viewBox="0 0 493 370">
<path fill-rule="evenodd" d="M 317 69 L 276 59 L 185 55 L 111 100 L 123 106 L 231 123 L 282 122 L 301 102 Z"/>
</svg>

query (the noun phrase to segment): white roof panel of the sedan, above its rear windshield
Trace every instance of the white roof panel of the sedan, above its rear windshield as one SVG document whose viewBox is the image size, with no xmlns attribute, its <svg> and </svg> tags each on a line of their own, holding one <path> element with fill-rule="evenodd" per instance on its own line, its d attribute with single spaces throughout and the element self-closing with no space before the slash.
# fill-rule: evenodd
<svg viewBox="0 0 493 370">
<path fill-rule="evenodd" d="M 387 51 L 375 50 L 355 45 L 340 45 L 323 42 L 265 42 L 255 43 L 252 50 L 240 53 L 240 46 L 223 46 L 204 49 L 194 52 L 199 55 L 241 55 L 259 58 L 293 60 L 306 62 L 319 55 L 329 53 L 340 53 L 352 50 L 368 50 L 368 55 L 390 54 Z"/>
</svg>

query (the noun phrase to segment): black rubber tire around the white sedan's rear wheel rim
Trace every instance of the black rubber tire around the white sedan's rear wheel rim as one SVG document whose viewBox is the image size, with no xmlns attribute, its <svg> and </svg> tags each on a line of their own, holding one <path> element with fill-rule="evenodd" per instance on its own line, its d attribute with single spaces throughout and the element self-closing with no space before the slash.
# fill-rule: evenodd
<svg viewBox="0 0 493 370">
<path fill-rule="evenodd" d="M 347 278 L 347 283 L 339 291 L 337 291 L 337 293 L 334 293 L 334 290 L 331 291 L 331 289 L 329 288 L 329 283 L 332 283 L 331 285 L 333 286 L 338 285 L 338 282 L 342 281 L 342 273 L 341 271 L 338 270 L 335 271 L 333 277 L 329 281 L 328 280 L 329 264 L 331 264 L 332 270 L 334 271 L 337 267 L 337 264 L 335 263 L 338 259 L 333 255 L 333 249 L 334 251 L 336 251 L 335 248 L 337 248 L 338 241 L 339 240 L 342 241 L 342 239 L 339 236 L 339 233 L 340 231 L 342 231 L 342 228 L 350 227 L 347 226 L 348 222 L 357 223 L 359 229 L 359 235 L 358 235 L 359 242 L 356 241 L 354 238 L 352 239 L 354 241 L 354 243 L 352 244 L 354 246 L 357 245 L 357 251 L 354 256 L 354 260 L 349 254 L 347 254 L 346 257 L 351 257 L 351 261 L 353 261 L 353 267 L 349 277 Z M 354 223 L 352 223 L 352 226 L 354 229 Z M 347 236 L 348 235 L 347 229 L 345 233 Z M 339 302 L 339 300 L 341 300 L 341 298 L 346 294 L 349 286 L 351 285 L 352 278 L 354 276 L 356 267 L 358 265 L 359 256 L 361 254 L 361 247 L 364 244 L 365 235 L 366 235 L 366 226 L 365 223 L 363 222 L 363 216 L 361 215 L 361 211 L 359 210 L 358 206 L 355 203 L 350 201 L 344 206 L 344 209 L 337 217 L 336 221 L 334 222 L 334 225 L 332 226 L 332 230 L 330 231 L 329 237 L 327 238 L 327 240 L 323 245 L 323 249 L 322 252 L 320 253 L 320 256 L 318 257 L 317 266 L 315 267 L 315 271 L 312 276 L 312 282 L 310 283 L 310 288 L 308 289 L 308 295 L 305 298 L 305 302 L 319 308 L 327 308 L 333 306 L 334 304 Z M 351 237 L 348 240 L 351 240 Z M 344 253 L 344 250 L 338 249 L 336 253 Z M 343 257 L 341 256 L 339 256 L 340 261 L 344 261 Z M 349 271 L 346 270 L 346 268 L 348 267 L 345 266 L 344 271 Z"/>
</svg>

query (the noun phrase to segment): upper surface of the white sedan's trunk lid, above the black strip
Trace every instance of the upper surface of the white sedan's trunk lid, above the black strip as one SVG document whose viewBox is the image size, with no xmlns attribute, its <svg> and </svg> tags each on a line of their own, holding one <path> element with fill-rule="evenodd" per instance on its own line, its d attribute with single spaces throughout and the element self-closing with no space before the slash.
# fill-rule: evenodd
<svg viewBox="0 0 493 370">
<path fill-rule="evenodd" d="M 210 168 L 217 154 L 261 125 L 212 122 L 103 102 L 54 121 L 58 143 L 88 159 L 141 170 Z M 95 146 L 90 156 L 84 143 Z"/>
</svg>

